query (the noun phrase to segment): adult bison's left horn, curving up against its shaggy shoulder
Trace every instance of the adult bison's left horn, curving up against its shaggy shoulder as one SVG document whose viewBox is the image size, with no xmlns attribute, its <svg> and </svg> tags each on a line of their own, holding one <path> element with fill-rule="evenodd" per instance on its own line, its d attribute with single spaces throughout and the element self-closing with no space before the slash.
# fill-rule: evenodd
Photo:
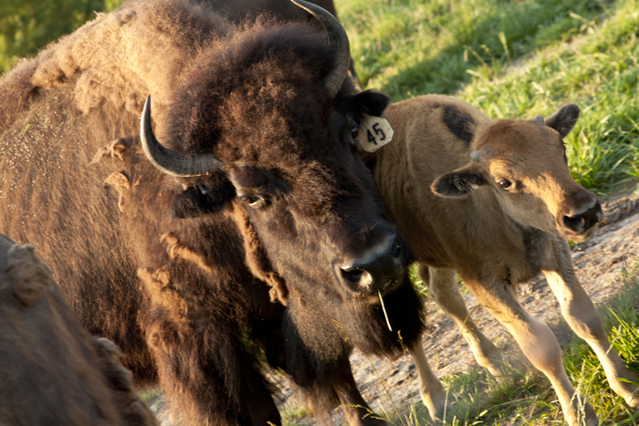
<svg viewBox="0 0 639 426">
<path fill-rule="evenodd" d="M 188 155 L 164 148 L 151 128 L 151 95 L 146 97 L 140 122 L 140 139 L 146 158 L 159 170 L 179 177 L 202 176 L 222 168 L 215 155 Z"/>
</svg>

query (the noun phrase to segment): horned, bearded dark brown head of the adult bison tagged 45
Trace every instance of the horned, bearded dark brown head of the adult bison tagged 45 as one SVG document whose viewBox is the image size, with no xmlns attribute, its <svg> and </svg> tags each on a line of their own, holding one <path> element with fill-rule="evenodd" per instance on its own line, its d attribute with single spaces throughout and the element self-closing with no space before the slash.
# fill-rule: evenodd
<svg viewBox="0 0 639 426">
<path fill-rule="evenodd" d="M 383 218 L 351 140 L 361 113 L 380 115 L 388 99 L 349 94 L 348 38 L 333 16 L 305 5 L 330 43 L 301 25 L 258 22 L 238 32 L 185 70 L 173 105 L 156 124 L 158 138 L 147 99 L 142 146 L 184 188 L 173 201 L 175 216 L 197 221 L 222 206 L 232 212 L 246 265 L 298 313 L 298 327 L 312 324 L 309 339 L 337 336 L 337 327 L 351 343 L 362 339 L 362 348 L 388 353 L 387 336 L 370 346 L 363 335 L 371 332 L 361 327 L 385 328 L 379 295 L 393 306 L 405 297 L 397 295 L 412 292 L 409 255 Z M 419 323 L 417 304 L 408 311 L 408 321 Z M 333 331 L 318 333 L 317 322 Z"/>
</svg>

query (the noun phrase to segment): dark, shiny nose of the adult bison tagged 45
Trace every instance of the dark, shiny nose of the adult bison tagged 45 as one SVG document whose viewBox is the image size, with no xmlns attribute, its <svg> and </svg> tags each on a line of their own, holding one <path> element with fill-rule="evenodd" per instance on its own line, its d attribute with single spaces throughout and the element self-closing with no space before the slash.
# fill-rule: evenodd
<svg viewBox="0 0 639 426">
<path fill-rule="evenodd" d="M 340 266 L 342 279 L 357 293 L 386 290 L 402 273 L 403 244 L 396 235 L 384 238 L 359 259 Z"/>
</svg>

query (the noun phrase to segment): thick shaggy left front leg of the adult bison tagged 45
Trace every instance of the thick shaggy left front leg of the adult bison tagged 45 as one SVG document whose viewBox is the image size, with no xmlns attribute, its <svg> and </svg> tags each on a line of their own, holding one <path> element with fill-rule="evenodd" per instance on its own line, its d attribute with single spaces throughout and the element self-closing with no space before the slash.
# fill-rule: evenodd
<svg viewBox="0 0 639 426">
<path fill-rule="evenodd" d="M 211 324 L 228 326 L 214 318 Z M 204 336 L 203 330 L 202 334 L 183 335 L 178 342 L 173 330 L 163 326 L 162 332 L 150 333 L 149 341 L 160 384 L 183 424 L 281 424 L 266 380 L 239 339 L 230 333 L 215 336 L 215 330 L 207 330 Z"/>
</svg>

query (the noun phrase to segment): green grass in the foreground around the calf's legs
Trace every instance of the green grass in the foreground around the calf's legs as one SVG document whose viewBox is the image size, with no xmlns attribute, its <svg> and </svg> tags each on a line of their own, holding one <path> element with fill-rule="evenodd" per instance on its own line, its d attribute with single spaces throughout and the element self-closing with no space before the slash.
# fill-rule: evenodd
<svg viewBox="0 0 639 426">
<path fill-rule="evenodd" d="M 599 307 L 604 328 L 615 350 L 626 360 L 630 369 L 639 372 L 639 266 L 623 270 L 621 291 L 605 306 Z M 563 322 L 551 325 L 560 335 L 567 335 Z M 608 385 L 601 364 L 592 349 L 581 338 L 572 336 L 561 342 L 564 366 L 572 383 L 589 398 L 602 426 L 639 424 L 639 411 L 628 409 Z M 512 354 L 510 354 L 512 357 Z M 453 426 L 521 425 L 542 426 L 563 423 L 559 402 L 550 382 L 519 360 L 507 367 L 507 379 L 496 380 L 484 369 L 446 376 L 443 381 L 453 402 L 447 415 Z M 391 405 L 390 402 L 388 404 Z M 407 412 L 385 416 L 397 426 L 431 424 L 421 403 Z M 382 416 L 383 417 L 383 416 Z"/>
</svg>

